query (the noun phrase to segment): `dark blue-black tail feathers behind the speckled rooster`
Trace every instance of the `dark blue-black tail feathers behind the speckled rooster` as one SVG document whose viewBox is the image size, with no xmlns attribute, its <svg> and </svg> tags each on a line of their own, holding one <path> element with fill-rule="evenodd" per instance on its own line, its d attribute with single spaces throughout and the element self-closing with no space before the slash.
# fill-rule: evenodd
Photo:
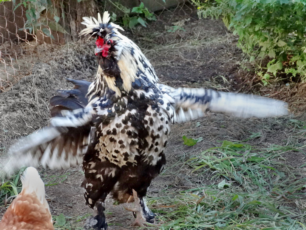
<svg viewBox="0 0 306 230">
<path fill-rule="evenodd" d="M 91 82 L 67 78 L 74 84 L 72 90 L 58 90 L 58 95 L 50 99 L 50 113 L 52 117 L 62 117 L 62 110 L 74 110 L 84 108 L 88 104 L 86 94 Z"/>
</svg>

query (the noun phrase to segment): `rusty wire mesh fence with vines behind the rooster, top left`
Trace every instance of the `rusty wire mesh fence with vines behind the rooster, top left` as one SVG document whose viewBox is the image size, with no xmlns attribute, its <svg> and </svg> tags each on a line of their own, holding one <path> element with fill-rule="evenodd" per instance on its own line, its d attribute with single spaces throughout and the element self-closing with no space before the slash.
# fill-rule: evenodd
<svg viewBox="0 0 306 230">
<path fill-rule="evenodd" d="M 80 44 L 82 17 L 108 10 L 125 28 L 158 21 L 160 13 L 188 4 L 184 0 L 13 0 L 0 2 L 0 93 L 31 75 L 35 63 L 48 63 L 54 51 Z M 154 12 L 154 13 L 152 13 Z M 169 21 L 168 21 L 169 20 Z M 171 26 L 171 24 L 170 24 Z M 174 25 L 171 29 L 178 29 Z M 77 48 L 76 48 L 77 49 Z"/>
</svg>

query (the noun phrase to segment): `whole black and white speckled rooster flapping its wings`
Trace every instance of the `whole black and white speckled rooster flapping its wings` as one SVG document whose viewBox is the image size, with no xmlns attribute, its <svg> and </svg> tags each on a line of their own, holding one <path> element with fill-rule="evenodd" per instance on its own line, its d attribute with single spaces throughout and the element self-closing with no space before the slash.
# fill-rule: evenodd
<svg viewBox="0 0 306 230">
<path fill-rule="evenodd" d="M 84 196 L 94 209 L 86 228 L 107 228 L 104 201 L 110 192 L 119 202 L 136 201 L 130 209 L 137 217 L 134 224 L 154 221 L 144 196 L 165 166 L 172 123 L 202 117 L 207 109 L 238 117 L 288 114 L 286 103 L 270 98 L 163 85 L 139 47 L 109 22 L 108 12 L 83 19 L 87 28 L 80 34 L 96 39 L 94 82 L 70 79 L 75 89 L 51 99 L 55 117 L 50 125 L 9 150 L 5 171 L 39 163 L 52 169 L 83 163 Z"/>
</svg>

